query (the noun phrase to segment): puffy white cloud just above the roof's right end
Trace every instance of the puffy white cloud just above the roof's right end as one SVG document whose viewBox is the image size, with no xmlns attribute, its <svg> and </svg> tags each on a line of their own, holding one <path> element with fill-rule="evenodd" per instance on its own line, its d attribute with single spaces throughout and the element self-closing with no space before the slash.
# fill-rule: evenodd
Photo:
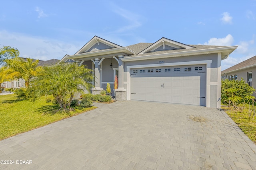
<svg viewBox="0 0 256 170">
<path fill-rule="evenodd" d="M 204 45 L 218 45 L 218 46 L 230 46 L 234 42 L 232 35 L 228 34 L 224 38 L 210 38 Z"/>
</svg>

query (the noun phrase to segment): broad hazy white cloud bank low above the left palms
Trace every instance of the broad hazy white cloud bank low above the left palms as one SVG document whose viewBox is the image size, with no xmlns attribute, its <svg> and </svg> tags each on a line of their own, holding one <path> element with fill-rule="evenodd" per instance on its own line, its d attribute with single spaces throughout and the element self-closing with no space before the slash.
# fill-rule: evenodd
<svg viewBox="0 0 256 170">
<path fill-rule="evenodd" d="M 20 51 L 20 57 L 40 60 L 61 59 L 64 55 L 72 55 L 80 49 L 73 44 L 55 39 L 32 37 L 8 31 L 0 31 L 0 45 L 17 48 Z"/>
</svg>

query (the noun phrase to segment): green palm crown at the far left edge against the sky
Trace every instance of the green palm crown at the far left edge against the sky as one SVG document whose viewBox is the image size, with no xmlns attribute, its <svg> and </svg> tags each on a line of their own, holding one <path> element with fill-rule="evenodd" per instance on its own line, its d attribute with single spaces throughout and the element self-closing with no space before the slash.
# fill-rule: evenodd
<svg viewBox="0 0 256 170">
<path fill-rule="evenodd" d="M 7 59 L 12 59 L 18 57 L 20 52 L 18 49 L 14 49 L 10 46 L 3 46 L 0 48 L 0 65 L 5 62 Z"/>
</svg>

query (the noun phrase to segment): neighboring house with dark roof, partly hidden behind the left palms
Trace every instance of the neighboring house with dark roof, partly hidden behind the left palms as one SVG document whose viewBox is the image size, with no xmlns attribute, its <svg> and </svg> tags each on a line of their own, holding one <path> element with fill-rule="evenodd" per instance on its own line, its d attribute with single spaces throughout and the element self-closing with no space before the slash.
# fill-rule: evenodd
<svg viewBox="0 0 256 170">
<path fill-rule="evenodd" d="M 20 57 L 23 58 L 23 57 Z M 26 59 L 26 58 L 23 58 Z M 36 60 L 33 60 L 36 61 Z M 57 64 L 60 60 L 58 59 L 51 59 L 51 60 L 47 60 L 47 61 L 42 61 L 39 60 L 38 62 L 38 66 L 50 66 L 50 65 L 54 65 Z M 8 82 L 3 82 L 1 84 L 2 87 L 5 88 L 20 88 L 20 87 L 25 87 L 25 80 L 22 78 L 19 78 L 18 80 L 12 80 L 12 81 L 8 81 Z"/>
</svg>

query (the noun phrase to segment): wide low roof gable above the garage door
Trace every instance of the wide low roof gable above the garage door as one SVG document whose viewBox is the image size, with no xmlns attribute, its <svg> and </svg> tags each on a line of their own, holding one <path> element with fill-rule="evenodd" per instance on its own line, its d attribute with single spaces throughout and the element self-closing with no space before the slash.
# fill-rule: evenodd
<svg viewBox="0 0 256 170">
<path fill-rule="evenodd" d="M 162 37 L 138 54 L 151 53 L 155 51 L 166 51 L 175 49 L 192 49 L 194 47 Z"/>
</svg>

